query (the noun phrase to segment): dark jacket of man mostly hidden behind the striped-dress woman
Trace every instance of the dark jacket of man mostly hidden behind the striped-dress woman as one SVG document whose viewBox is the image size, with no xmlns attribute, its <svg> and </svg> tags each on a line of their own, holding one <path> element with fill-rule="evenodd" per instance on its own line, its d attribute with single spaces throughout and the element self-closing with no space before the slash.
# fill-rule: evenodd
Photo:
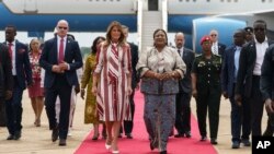
<svg viewBox="0 0 274 154">
<path fill-rule="evenodd" d="M 130 52 L 132 52 L 132 68 L 133 68 L 133 74 L 132 74 L 132 88 L 135 88 L 136 85 L 139 83 L 139 76 L 137 76 L 136 66 L 138 63 L 138 46 L 135 44 L 128 43 L 130 46 Z"/>
</svg>

